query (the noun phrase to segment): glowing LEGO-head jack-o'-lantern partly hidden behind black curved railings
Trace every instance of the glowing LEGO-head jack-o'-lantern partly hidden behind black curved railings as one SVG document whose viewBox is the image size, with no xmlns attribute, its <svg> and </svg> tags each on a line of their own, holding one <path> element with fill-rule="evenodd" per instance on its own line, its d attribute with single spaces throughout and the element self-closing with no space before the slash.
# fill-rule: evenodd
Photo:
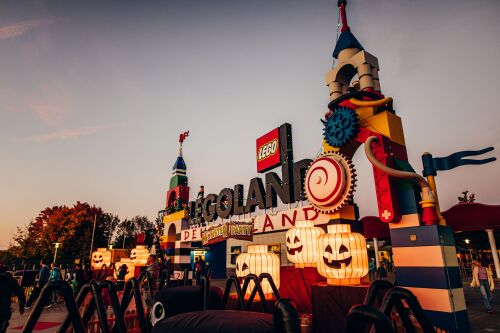
<svg viewBox="0 0 500 333">
<path fill-rule="evenodd" d="M 269 273 L 276 287 L 280 286 L 280 258 L 267 251 L 267 245 L 248 245 L 247 253 L 242 253 L 236 258 L 236 276 L 245 277 L 248 274 L 259 276 Z M 247 295 L 253 290 L 253 283 L 247 289 Z M 272 293 L 271 286 L 267 280 L 262 282 L 262 290 L 265 294 Z"/>
</svg>

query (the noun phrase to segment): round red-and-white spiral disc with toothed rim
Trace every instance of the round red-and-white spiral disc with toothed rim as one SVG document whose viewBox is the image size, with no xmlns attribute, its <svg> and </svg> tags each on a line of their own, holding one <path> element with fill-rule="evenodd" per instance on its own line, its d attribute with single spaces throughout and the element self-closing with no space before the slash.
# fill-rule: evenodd
<svg viewBox="0 0 500 333">
<path fill-rule="evenodd" d="M 351 161 L 337 152 L 326 152 L 309 166 L 304 188 L 316 211 L 333 213 L 352 198 L 354 183 Z"/>
</svg>

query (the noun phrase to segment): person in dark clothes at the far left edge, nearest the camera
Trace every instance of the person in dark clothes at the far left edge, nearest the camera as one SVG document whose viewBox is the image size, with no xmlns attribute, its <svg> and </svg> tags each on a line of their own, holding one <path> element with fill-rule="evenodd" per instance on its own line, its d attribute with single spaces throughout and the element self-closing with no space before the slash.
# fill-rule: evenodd
<svg viewBox="0 0 500 333">
<path fill-rule="evenodd" d="M 7 272 L 7 267 L 0 265 L 0 333 L 5 333 L 9 326 L 9 320 L 12 316 L 12 296 L 17 296 L 19 300 L 19 313 L 23 314 L 26 303 L 23 288 Z"/>
</svg>

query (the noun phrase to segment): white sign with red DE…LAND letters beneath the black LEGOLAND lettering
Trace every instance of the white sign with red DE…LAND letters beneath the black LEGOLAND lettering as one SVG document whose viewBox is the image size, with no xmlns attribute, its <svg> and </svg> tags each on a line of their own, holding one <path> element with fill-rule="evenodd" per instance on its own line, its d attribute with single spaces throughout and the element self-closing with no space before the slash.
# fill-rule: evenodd
<svg viewBox="0 0 500 333">
<path fill-rule="evenodd" d="M 253 221 L 251 222 L 252 225 L 252 233 L 253 235 L 255 234 L 262 234 L 262 233 L 269 233 L 269 232 L 276 232 L 276 231 L 282 231 L 282 230 L 287 230 L 295 226 L 295 222 L 297 221 L 304 221 L 304 220 L 309 220 L 313 221 L 314 225 L 323 225 L 327 224 L 328 221 L 330 220 L 330 217 L 326 214 L 320 214 L 316 212 L 312 206 L 305 206 L 305 207 L 300 207 L 300 208 L 295 208 L 295 209 L 289 209 L 286 211 L 278 212 L 275 214 L 268 213 L 268 214 L 263 214 L 259 215 L 255 218 L 253 218 Z M 226 224 L 230 223 L 240 223 L 243 224 L 245 222 L 243 221 L 232 221 L 232 222 L 226 222 L 226 223 L 221 223 L 215 227 L 206 229 L 206 228 L 191 228 L 187 230 L 182 230 L 181 231 L 181 242 L 198 242 L 202 241 L 204 242 L 204 236 L 206 237 L 207 242 L 209 242 L 209 236 L 212 237 L 212 239 L 215 239 L 217 237 L 220 237 L 224 234 L 224 226 Z M 246 224 L 250 224 L 246 222 Z M 222 229 L 222 230 L 221 230 Z M 212 230 L 214 231 L 213 234 L 207 234 L 207 232 L 211 232 Z M 246 231 L 245 231 L 246 232 Z M 228 237 L 230 238 L 230 237 Z M 221 241 L 224 239 L 221 239 Z M 251 239 L 245 239 L 245 240 L 250 240 Z M 213 244 L 215 243 L 207 243 L 207 244 Z"/>
</svg>

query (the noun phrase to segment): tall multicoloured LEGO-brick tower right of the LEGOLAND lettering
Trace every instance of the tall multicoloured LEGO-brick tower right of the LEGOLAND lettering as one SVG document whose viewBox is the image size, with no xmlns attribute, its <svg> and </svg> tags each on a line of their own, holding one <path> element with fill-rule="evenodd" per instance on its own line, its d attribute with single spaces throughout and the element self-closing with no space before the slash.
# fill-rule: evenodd
<svg viewBox="0 0 500 333">
<path fill-rule="evenodd" d="M 392 98 L 381 92 L 378 60 L 351 33 L 345 6 L 346 0 L 340 0 L 342 33 L 333 52 L 335 66 L 326 75 L 331 102 L 324 122 L 325 149 L 352 157 L 374 136 L 377 140 L 369 149 L 378 162 L 393 170 L 414 172 L 408 163 L 401 118 L 393 109 Z M 349 118 L 348 109 L 354 110 L 355 118 Z M 428 214 L 431 201 L 423 202 L 416 183 L 389 176 L 375 164 L 373 175 L 379 218 L 390 226 L 397 285 L 415 294 L 434 326 L 467 332 L 453 231 L 428 223 L 427 217 L 424 225 L 421 205 Z"/>
</svg>

